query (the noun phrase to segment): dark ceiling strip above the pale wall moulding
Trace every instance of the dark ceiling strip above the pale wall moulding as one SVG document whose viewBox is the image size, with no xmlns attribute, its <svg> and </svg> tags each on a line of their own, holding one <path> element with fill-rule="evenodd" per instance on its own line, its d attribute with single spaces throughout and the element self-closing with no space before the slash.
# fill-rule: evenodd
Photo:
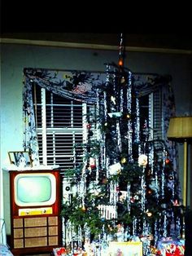
<svg viewBox="0 0 192 256">
<path fill-rule="evenodd" d="M 192 50 L 191 34 L 124 33 L 124 46 Z M 120 33 L 2 33 L 1 38 L 119 46 Z"/>
</svg>

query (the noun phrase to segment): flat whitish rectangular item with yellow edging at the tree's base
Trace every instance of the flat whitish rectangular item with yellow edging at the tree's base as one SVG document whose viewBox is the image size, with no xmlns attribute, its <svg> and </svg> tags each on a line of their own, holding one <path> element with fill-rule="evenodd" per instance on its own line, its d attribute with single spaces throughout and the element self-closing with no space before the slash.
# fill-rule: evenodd
<svg viewBox="0 0 192 256">
<path fill-rule="evenodd" d="M 142 242 L 110 242 L 107 256 L 142 256 Z"/>
</svg>

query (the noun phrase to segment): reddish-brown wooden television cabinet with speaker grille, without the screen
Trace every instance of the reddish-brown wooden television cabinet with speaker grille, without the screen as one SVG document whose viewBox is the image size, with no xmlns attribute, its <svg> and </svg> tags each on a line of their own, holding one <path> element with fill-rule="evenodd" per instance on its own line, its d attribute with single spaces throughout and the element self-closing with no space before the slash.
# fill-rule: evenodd
<svg viewBox="0 0 192 256">
<path fill-rule="evenodd" d="M 31 173 L 31 171 L 26 171 Z M 40 171 L 33 171 L 33 173 Z M 49 211 L 36 213 L 37 207 L 30 215 L 18 214 L 14 199 L 15 171 L 10 171 L 11 184 L 11 253 L 14 255 L 52 252 L 53 248 L 61 246 L 62 231 L 60 217 L 60 176 L 59 170 L 41 170 L 42 173 L 55 173 L 56 201 L 51 214 Z M 16 174 L 25 171 L 16 171 Z M 43 207 L 42 207 L 43 209 Z"/>
</svg>

